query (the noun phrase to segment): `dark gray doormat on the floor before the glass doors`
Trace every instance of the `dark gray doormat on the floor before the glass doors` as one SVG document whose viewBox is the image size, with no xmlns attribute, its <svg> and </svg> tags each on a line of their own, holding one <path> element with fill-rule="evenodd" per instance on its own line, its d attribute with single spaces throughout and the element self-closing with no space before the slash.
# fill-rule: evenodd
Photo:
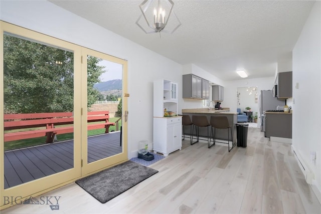
<svg viewBox="0 0 321 214">
<path fill-rule="evenodd" d="M 105 203 L 157 172 L 129 160 L 76 180 L 76 183 L 101 203 Z"/>
</svg>

